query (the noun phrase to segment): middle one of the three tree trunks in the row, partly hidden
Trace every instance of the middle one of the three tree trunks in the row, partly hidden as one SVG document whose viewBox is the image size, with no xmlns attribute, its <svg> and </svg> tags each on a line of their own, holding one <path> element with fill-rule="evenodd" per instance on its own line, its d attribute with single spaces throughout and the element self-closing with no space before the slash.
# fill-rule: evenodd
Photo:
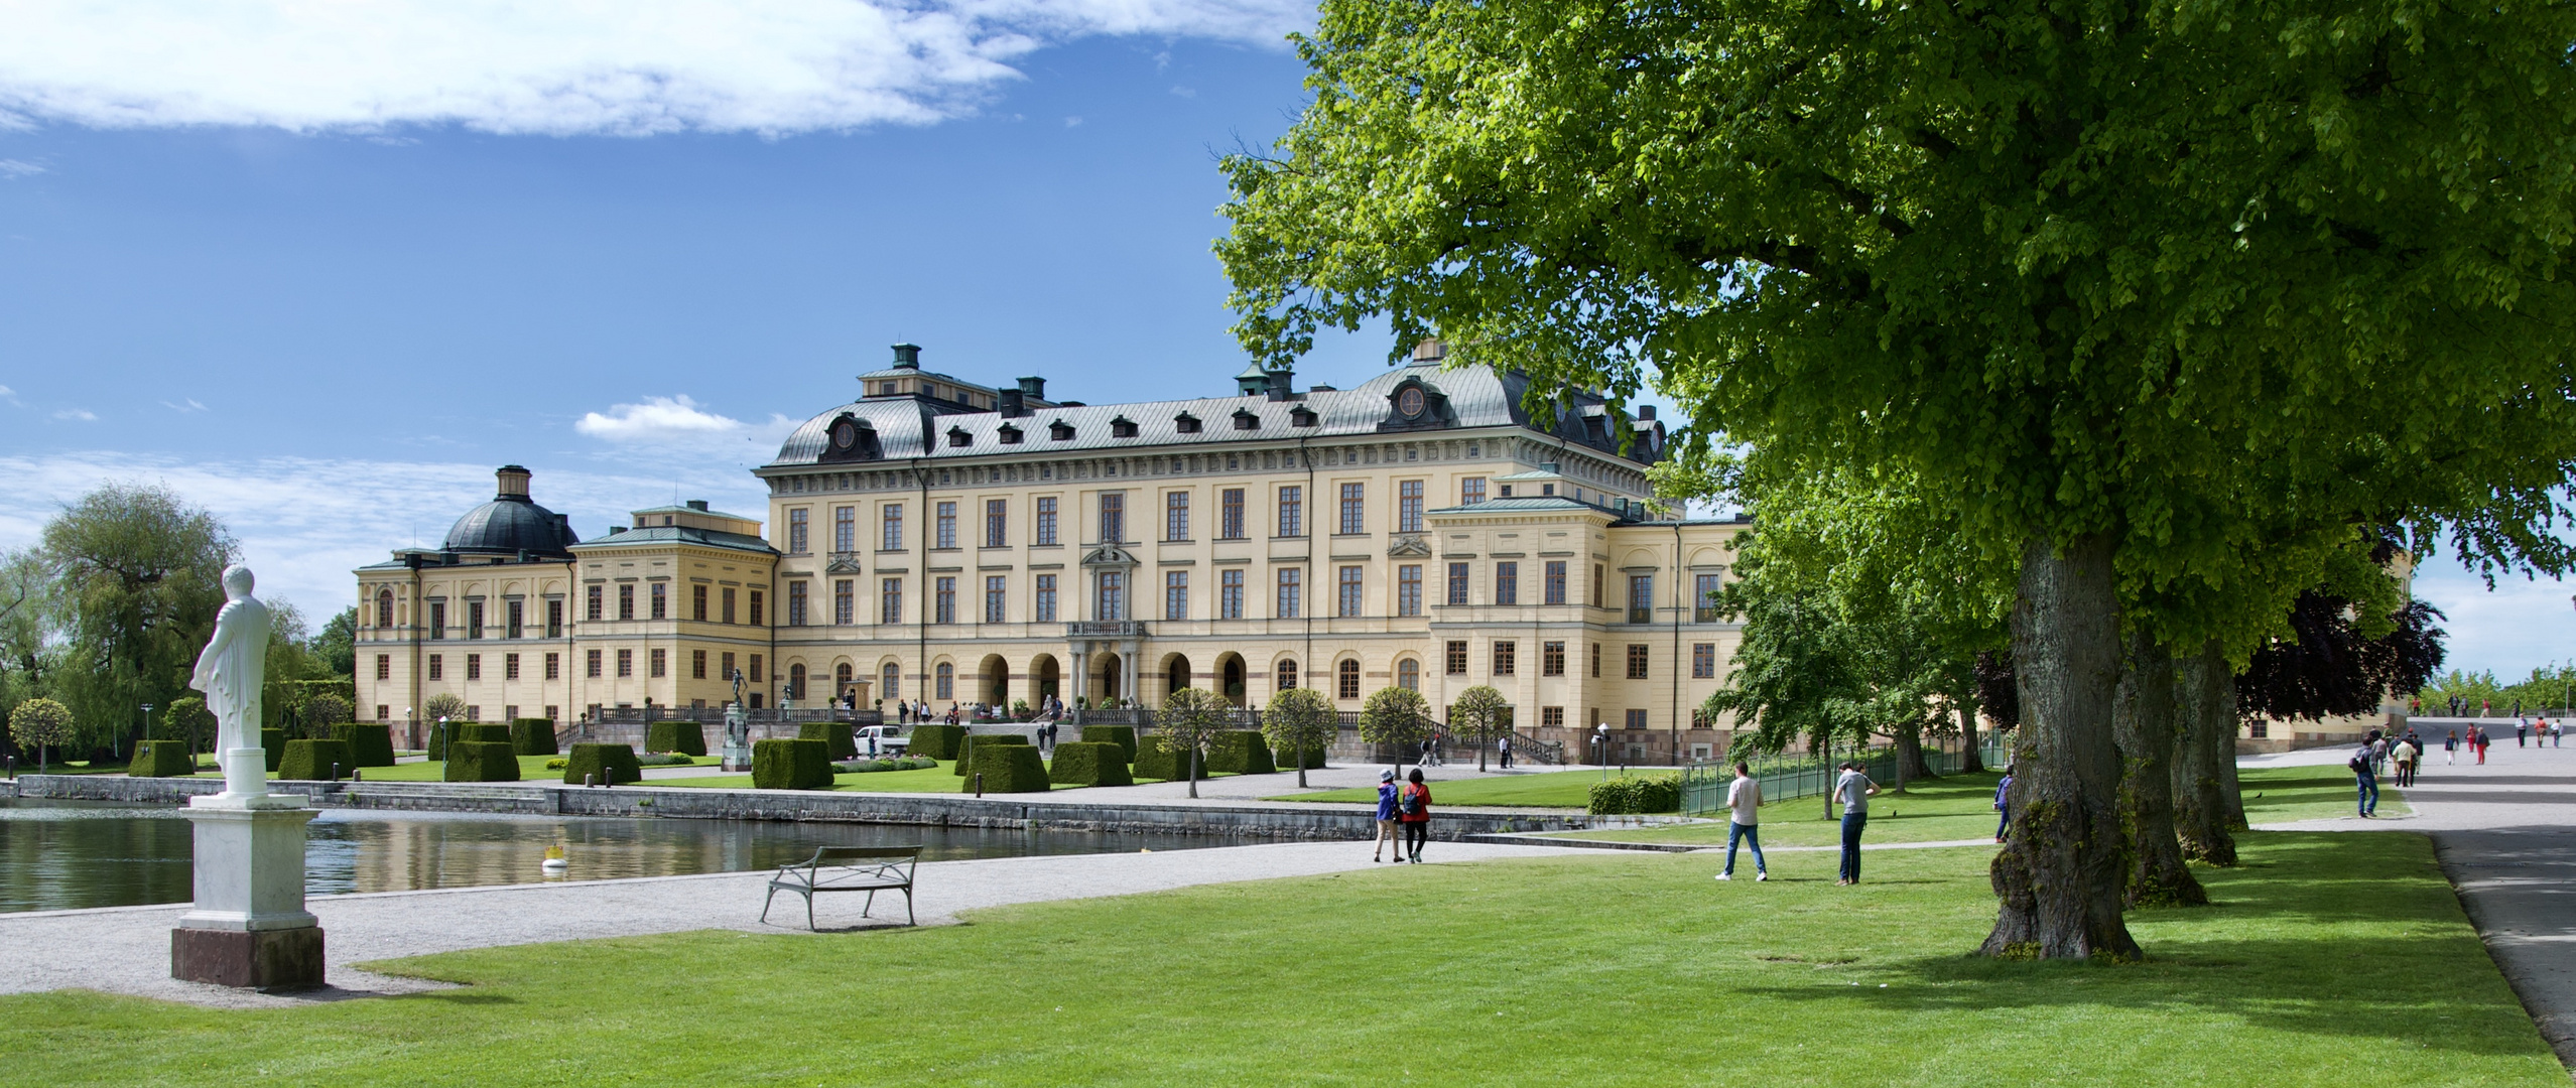
<svg viewBox="0 0 2576 1088">
<path fill-rule="evenodd" d="M 2174 841 L 2174 656 L 2130 633 L 2120 674 L 2120 823 L 2128 833 L 2128 905 L 2210 905 Z"/>
</svg>

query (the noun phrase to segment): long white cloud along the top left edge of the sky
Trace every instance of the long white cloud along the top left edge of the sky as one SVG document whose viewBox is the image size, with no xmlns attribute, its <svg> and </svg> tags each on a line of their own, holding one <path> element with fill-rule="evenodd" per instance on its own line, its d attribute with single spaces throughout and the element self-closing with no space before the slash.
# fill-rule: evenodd
<svg viewBox="0 0 2576 1088">
<path fill-rule="evenodd" d="M 500 134 L 927 123 L 1084 36 L 1278 46 L 1311 0 L 28 0 L 0 123 Z"/>
</svg>

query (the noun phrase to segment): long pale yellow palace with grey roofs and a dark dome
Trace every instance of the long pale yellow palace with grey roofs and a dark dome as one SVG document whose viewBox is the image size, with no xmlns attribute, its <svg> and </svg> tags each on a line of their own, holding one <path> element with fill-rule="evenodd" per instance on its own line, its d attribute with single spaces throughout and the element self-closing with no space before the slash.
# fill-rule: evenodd
<svg viewBox="0 0 2576 1088">
<path fill-rule="evenodd" d="M 1525 376 L 1443 355 L 1358 388 L 1247 368 L 1231 396 L 1082 404 L 896 345 L 755 471 L 765 532 L 688 504 L 582 543 L 510 466 L 440 548 L 358 571 L 361 710 L 721 707 L 737 671 L 747 707 L 860 710 L 1492 684 L 1522 736 L 1721 751 L 1695 707 L 1739 638 L 1710 597 L 1747 522 L 1649 504 L 1651 409 L 1564 391 L 1533 417 Z"/>
</svg>

